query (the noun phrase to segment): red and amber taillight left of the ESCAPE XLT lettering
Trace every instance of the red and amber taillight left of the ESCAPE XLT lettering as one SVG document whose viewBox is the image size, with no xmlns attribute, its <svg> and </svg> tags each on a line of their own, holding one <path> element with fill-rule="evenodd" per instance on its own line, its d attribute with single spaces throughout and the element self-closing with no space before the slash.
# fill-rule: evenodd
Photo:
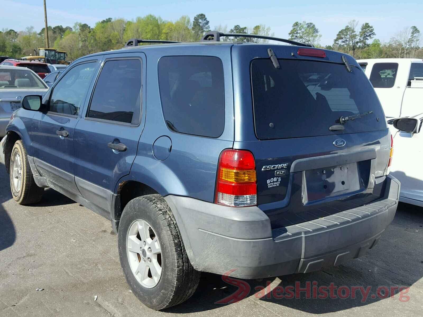
<svg viewBox="0 0 423 317">
<path fill-rule="evenodd" d="M 217 168 L 215 202 L 232 207 L 257 204 L 257 177 L 253 153 L 247 150 L 224 150 Z"/>
</svg>

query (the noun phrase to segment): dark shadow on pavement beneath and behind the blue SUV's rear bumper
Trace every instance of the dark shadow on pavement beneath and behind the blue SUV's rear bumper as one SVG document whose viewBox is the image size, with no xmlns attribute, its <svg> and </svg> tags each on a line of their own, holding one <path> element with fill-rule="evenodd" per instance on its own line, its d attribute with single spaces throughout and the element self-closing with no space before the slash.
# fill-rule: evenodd
<svg viewBox="0 0 423 317">
<path fill-rule="evenodd" d="M 285 307 L 313 314 L 338 312 L 376 301 L 392 301 L 390 295 L 393 295 L 393 299 L 399 301 L 399 304 L 413 299 L 417 301 L 418 298 L 412 297 L 412 292 L 408 293 L 408 287 L 412 289 L 412 285 L 423 276 L 421 269 L 423 259 L 420 256 L 423 246 L 422 233 L 423 208 L 400 203 L 393 223 L 382 235 L 379 243 L 368 250 L 365 257 L 307 274 L 292 274 L 261 281 L 236 279 L 238 285 L 249 285 L 250 292 L 246 295 L 242 295 L 242 292 L 237 294 L 236 291 L 242 287 L 225 283 L 221 276 L 203 273 L 195 294 L 185 303 L 164 312 L 184 314 L 217 309 L 231 305 L 234 294 L 239 295 L 238 299 L 242 301 L 260 301 L 263 306 L 267 306 L 265 302 L 278 304 L 280 311 L 276 312 L 281 314 Z M 329 288 L 331 284 L 336 287 L 332 292 L 332 298 Z M 310 298 L 307 298 L 306 292 L 308 285 Z M 292 298 L 281 298 L 288 295 L 286 290 L 289 286 Z M 316 290 L 314 298 L 313 286 Z M 326 296 L 319 292 L 319 287 L 326 287 Z M 228 296 L 232 297 L 229 297 L 231 301 L 227 304 L 217 303 L 225 301 Z M 273 305 L 272 310 L 274 309 Z"/>
</svg>

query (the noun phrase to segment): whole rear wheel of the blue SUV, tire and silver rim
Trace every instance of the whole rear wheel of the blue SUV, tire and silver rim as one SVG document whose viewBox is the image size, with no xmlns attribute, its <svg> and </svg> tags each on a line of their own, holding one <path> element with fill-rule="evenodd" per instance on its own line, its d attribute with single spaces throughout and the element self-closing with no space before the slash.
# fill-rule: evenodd
<svg viewBox="0 0 423 317">
<path fill-rule="evenodd" d="M 125 206 L 118 249 L 129 287 L 152 309 L 178 305 L 198 287 L 200 272 L 188 260 L 175 217 L 159 194 L 137 197 Z"/>
</svg>

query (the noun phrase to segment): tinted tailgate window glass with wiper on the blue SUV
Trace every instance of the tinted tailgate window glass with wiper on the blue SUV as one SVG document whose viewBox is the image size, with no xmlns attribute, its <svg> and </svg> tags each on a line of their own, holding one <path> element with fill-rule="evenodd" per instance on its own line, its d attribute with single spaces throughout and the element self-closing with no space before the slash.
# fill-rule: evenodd
<svg viewBox="0 0 423 317">
<path fill-rule="evenodd" d="M 365 74 L 353 67 L 314 61 L 270 59 L 251 64 L 255 132 L 258 139 L 285 139 L 376 131 L 386 128 L 379 100 Z M 374 113 L 330 131 L 341 116 Z M 379 122 L 376 120 L 379 118 Z"/>
</svg>

